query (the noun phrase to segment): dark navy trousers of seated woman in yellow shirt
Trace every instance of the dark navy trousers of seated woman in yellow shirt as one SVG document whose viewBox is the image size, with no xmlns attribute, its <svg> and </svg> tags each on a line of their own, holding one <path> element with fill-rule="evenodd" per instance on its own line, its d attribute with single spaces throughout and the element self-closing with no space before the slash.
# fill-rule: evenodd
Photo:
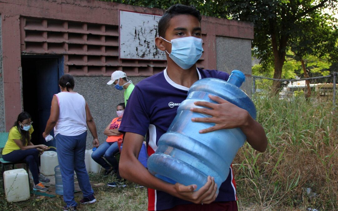
<svg viewBox="0 0 338 211">
<path fill-rule="evenodd" d="M 9 162 L 25 160 L 32 173 L 34 185 L 39 184 L 39 151 L 37 149 L 14 150 L 6 155 L 2 155 L 2 158 Z"/>
</svg>

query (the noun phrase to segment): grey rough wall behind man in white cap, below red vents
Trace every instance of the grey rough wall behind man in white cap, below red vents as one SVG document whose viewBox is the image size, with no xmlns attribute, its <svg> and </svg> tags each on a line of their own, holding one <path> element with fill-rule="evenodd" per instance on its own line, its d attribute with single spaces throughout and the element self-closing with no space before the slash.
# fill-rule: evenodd
<svg viewBox="0 0 338 211">
<path fill-rule="evenodd" d="M 146 77 L 128 77 L 135 85 Z M 100 143 L 107 136 L 103 134 L 105 127 L 116 115 L 116 106 L 124 102 L 124 90 L 117 90 L 114 84 L 107 85 L 110 77 L 106 76 L 75 76 L 74 90 L 81 94 L 88 103 L 89 109 L 96 124 L 97 135 Z M 93 137 L 88 130 L 87 149 L 93 148 Z"/>
</svg>

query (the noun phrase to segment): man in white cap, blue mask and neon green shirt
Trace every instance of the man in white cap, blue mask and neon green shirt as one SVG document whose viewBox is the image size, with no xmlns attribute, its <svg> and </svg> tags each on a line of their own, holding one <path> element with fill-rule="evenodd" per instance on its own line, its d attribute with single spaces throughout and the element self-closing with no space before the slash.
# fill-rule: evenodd
<svg viewBox="0 0 338 211">
<path fill-rule="evenodd" d="M 111 80 L 108 81 L 108 85 L 115 84 L 115 88 L 118 90 L 124 90 L 124 104 L 127 105 L 127 101 L 129 99 L 129 96 L 134 90 L 134 84 L 130 80 L 127 80 L 127 75 L 120 71 L 117 70 L 114 73 L 112 73 Z"/>
</svg>

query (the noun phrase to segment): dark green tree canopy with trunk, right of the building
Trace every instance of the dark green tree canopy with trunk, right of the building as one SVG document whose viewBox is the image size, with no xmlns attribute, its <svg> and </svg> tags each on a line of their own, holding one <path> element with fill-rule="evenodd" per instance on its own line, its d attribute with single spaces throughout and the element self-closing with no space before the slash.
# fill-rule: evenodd
<svg viewBox="0 0 338 211">
<path fill-rule="evenodd" d="M 225 6 L 231 18 L 255 24 L 254 54 L 264 68 L 273 64 L 273 78 L 281 79 L 286 53 L 292 49 L 296 60 L 303 56 L 336 59 L 337 20 L 325 8 L 337 11 L 333 0 L 233 0 Z M 277 93 L 281 83 L 274 81 Z"/>
</svg>

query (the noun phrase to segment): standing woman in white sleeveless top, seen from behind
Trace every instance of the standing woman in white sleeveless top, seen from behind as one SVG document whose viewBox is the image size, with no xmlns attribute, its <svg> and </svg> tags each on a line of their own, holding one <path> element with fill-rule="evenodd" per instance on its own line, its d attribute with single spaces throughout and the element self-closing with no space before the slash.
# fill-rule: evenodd
<svg viewBox="0 0 338 211">
<path fill-rule="evenodd" d="M 73 76 L 66 74 L 60 78 L 61 92 L 53 96 L 50 117 L 42 134 L 45 138 L 54 128 L 66 203 L 64 210 L 76 209 L 77 206 L 74 200 L 74 170 L 83 193 L 80 203 L 96 202 L 84 164 L 87 126 L 93 135 L 93 146 L 98 147 L 99 141 L 88 104 L 82 95 L 73 91 L 74 85 Z"/>
</svg>

